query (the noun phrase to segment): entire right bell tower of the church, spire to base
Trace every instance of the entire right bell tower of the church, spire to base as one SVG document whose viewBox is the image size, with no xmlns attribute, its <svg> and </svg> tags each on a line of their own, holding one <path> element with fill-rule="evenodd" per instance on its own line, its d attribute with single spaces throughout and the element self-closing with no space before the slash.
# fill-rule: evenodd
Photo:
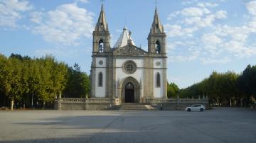
<svg viewBox="0 0 256 143">
<path fill-rule="evenodd" d="M 146 72 L 146 77 L 149 83 L 147 86 L 151 86 L 153 91 L 147 90 L 151 97 L 167 98 L 167 81 L 166 81 L 166 34 L 164 33 L 164 27 L 160 22 L 159 12 L 157 8 L 154 12 L 154 20 L 150 28 L 148 36 L 148 52 L 152 57 L 149 59 L 149 67 Z M 157 67 L 158 69 L 154 68 Z"/>
</svg>

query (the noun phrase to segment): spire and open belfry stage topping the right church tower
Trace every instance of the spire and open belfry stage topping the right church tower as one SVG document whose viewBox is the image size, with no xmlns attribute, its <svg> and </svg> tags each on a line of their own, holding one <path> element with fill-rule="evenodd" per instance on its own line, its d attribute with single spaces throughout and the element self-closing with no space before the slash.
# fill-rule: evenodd
<svg viewBox="0 0 256 143">
<path fill-rule="evenodd" d="M 166 34 L 161 25 L 157 8 L 154 13 L 154 20 L 148 36 L 148 52 L 156 55 L 166 55 Z"/>
</svg>

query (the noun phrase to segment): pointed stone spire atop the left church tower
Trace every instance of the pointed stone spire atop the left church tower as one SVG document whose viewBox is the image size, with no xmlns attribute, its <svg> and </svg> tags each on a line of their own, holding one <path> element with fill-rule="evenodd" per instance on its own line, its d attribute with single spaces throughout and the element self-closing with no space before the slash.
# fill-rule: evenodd
<svg viewBox="0 0 256 143">
<path fill-rule="evenodd" d="M 97 24 L 95 26 L 95 31 L 108 31 L 108 26 L 107 26 L 107 21 L 105 18 L 103 3 L 101 6 L 100 16 L 99 16 Z"/>
</svg>

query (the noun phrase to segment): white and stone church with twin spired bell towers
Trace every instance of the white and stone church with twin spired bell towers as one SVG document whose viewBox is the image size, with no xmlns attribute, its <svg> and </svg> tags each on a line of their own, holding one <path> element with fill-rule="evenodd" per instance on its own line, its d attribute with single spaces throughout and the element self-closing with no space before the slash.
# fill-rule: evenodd
<svg viewBox="0 0 256 143">
<path fill-rule="evenodd" d="M 111 47 L 103 6 L 92 35 L 91 98 L 118 98 L 121 103 L 167 98 L 166 34 L 157 8 L 147 51 L 134 45 L 126 27 Z"/>
</svg>

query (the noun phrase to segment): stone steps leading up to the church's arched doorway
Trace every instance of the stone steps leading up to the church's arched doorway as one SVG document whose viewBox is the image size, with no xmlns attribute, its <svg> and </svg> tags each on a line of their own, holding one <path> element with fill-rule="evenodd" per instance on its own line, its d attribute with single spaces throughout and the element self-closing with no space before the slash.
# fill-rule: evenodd
<svg viewBox="0 0 256 143">
<path fill-rule="evenodd" d="M 148 104 L 122 103 L 120 110 L 154 110 L 154 108 Z"/>
</svg>

